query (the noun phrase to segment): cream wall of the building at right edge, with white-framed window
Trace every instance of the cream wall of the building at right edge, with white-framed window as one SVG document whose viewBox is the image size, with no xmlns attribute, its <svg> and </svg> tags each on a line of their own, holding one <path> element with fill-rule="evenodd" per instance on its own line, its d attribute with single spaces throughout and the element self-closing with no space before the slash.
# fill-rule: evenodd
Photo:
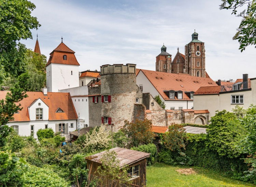
<svg viewBox="0 0 256 187">
<path fill-rule="evenodd" d="M 244 109 L 251 104 L 256 104 L 256 80 L 251 80 L 252 90 L 238 91 L 238 92 L 222 92 L 215 95 L 194 95 L 194 109 L 203 110 L 208 109 L 210 116 L 215 115 L 215 111 L 232 111 L 237 104 L 231 104 L 231 96 L 243 95 L 243 104 L 239 104 Z"/>
</svg>

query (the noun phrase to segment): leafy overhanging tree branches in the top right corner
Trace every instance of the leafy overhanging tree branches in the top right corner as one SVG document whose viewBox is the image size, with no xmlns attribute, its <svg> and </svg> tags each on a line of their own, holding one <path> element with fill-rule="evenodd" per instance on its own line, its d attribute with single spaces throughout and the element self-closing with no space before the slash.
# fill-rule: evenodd
<svg viewBox="0 0 256 187">
<path fill-rule="evenodd" d="M 237 14 L 237 10 L 245 8 Z M 242 17 L 242 21 L 238 27 L 238 32 L 233 39 L 240 43 L 241 52 L 249 45 L 255 45 L 256 48 L 256 1 L 255 0 L 222 0 L 220 9 L 231 9 L 234 15 Z"/>
</svg>

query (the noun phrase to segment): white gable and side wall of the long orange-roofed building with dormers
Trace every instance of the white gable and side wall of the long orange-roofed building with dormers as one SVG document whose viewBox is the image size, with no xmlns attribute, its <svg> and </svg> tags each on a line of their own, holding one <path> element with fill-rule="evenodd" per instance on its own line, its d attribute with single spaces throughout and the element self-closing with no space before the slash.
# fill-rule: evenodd
<svg viewBox="0 0 256 187">
<path fill-rule="evenodd" d="M 187 101 L 182 100 L 164 100 L 142 71 L 140 71 L 136 77 L 136 84 L 138 86 L 143 85 L 143 93 L 150 93 L 153 97 L 159 95 L 161 100 L 164 101 L 166 104 L 165 109 L 170 109 L 171 106 L 174 106 L 175 109 L 179 109 L 179 106 L 183 106 L 183 109 L 191 109 L 191 107 L 193 106 L 193 101 L 188 101 L 187 103 Z"/>
</svg>

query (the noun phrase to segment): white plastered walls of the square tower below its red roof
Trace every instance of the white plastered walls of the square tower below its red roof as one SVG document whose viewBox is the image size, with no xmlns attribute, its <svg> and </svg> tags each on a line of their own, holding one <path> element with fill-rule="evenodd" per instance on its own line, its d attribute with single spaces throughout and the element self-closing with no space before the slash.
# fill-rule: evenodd
<svg viewBox="0 0 256 187">
<path fill-rule="evenodd" d="M 60 89 L 79 86 L 79 66 L 77 65 L 51 63 L 46 67 L 47 75 L 46 81 L 50 81 L 46 82 L 49 92 L 58 92 Z"/>
</svg>

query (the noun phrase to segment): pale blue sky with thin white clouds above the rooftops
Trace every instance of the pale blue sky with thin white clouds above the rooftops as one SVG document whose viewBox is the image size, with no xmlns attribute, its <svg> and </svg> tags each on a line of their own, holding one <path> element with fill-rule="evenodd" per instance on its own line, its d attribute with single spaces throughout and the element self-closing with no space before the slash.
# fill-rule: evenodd
<svg viewBox="0 0 256 187">
<path fill-rule="evenodd" d="M 221 0 L 31 0 L 32 16 L 42 25 L 33 39 L 22 40 L 49 58 L 61 42 L 75 51 L 79 70 L 100 70 L 104 64 L 137 64 L 155 70 L 163 43 L 174 58 L 184 54 L 196 29 L 205 45 L 206 71 L 213 80 L 256 77 L 254 46 L 240 52 L 232 40 L 241 18 L 219 10 Z"/>
</svg>

